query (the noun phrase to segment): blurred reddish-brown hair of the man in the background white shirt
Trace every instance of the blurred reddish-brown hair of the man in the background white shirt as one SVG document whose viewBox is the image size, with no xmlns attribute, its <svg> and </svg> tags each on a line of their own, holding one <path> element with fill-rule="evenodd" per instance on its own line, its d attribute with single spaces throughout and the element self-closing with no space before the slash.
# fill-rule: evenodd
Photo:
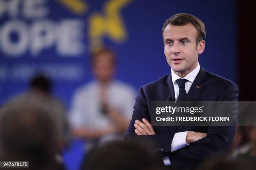
<svg viewBox="0 0 256 170">
<path fill-rule="evenodd" d="M 102 54 L 107 54 L 108 56 L 112 57 L 113 65 L 116 64 L 116 54 L 115 54 L 114 50 L 112 50 L 108 47 L 102 47 L 91 54 L 92 65 L 95 64 L 97 57 L 101 56 Z"/>
</svg>

